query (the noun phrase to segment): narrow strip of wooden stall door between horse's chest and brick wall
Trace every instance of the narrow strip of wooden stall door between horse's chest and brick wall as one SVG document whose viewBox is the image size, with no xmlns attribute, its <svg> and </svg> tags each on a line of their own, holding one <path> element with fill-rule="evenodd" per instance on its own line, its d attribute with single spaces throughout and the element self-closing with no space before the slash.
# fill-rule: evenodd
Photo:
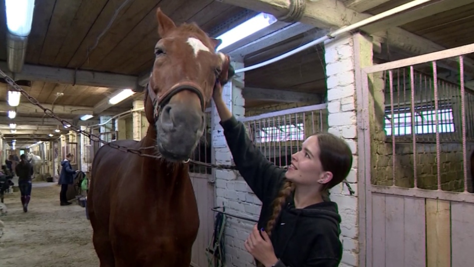
<svg viewBox="0 0 474 267">
<path fill-rule="evenodd" d="M 199 231 L 192 246 L 191 266 L 206 267 L 206 247 L 214 227 L 214 185 L 209 183 L 211 174 L 189 173 L 199 212 Z"/>
</svg>

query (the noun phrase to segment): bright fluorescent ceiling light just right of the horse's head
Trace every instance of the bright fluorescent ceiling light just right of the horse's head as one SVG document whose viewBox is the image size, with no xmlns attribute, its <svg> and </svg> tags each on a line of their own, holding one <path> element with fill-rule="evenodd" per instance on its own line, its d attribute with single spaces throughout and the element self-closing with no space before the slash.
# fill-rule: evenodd
<svg viewBox="0 0 474 267">
<path fill-rule="evenodd" d="M 224 47 L 230 46 L 237 41 L 255 34 L 256 32 L 274 24 L 275 22 L 277 22 L 277 19 L 273 15 L 260 13 L 252 19 L 216 37 L 216 39 L 222 40 L 222 44 L 217 47 L 216 51 L 219 51 Z"/>
</svg>

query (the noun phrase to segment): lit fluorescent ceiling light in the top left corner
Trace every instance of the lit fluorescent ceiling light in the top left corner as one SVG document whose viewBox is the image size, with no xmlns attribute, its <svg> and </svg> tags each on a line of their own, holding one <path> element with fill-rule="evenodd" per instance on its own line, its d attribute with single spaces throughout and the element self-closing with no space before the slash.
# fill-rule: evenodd
<svg viewBox="0 0 474 267">
<path fill-rule="evenodd" d="M 17 36 L 28 36 L 33 22 L 35 0 L 5 0 L 7 28 Z"/>
</svg>

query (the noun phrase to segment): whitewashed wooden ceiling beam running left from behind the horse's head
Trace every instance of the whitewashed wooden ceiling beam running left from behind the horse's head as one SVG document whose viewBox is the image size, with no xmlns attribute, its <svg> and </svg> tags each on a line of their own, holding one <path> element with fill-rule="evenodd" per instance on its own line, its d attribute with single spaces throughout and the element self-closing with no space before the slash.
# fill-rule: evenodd
<svg viewBox="0 0 474 267">
<path fill-rule="evenodd" d="M 0 61 L 0 69 L 16 81 L 42 81 L 92 87 L 130 88 L 132 90 L 135 90 L 138 84 L 137 76 L 85 70 L 76 71 L 74 69 L 29 64 L 23 66 L 21 73 L 11 73 L 8 71 L 7 62 L 5 61 Z"/>
</svg>

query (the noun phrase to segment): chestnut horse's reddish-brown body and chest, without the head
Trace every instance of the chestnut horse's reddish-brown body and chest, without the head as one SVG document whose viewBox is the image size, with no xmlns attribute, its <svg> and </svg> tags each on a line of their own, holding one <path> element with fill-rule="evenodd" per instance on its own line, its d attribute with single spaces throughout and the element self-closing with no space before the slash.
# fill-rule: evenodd
<svg viewBox="0 0 474 267">
<path fill-rule="evenodd" d="M 139 148 L 149 146 L 146 141 L 114 143 Z M 166 163 L 153 161 L 109 146 L 94 157 L 88 198 L 88 204 L 94 203 L 89 209 L 93 241 L 97 253 L 115 266 L 189 266 L 199 228 L 189 175 L 185 168 L 173 172 Z M 114 265 L 101 260 L 101 266 Z"/>
</svg>

